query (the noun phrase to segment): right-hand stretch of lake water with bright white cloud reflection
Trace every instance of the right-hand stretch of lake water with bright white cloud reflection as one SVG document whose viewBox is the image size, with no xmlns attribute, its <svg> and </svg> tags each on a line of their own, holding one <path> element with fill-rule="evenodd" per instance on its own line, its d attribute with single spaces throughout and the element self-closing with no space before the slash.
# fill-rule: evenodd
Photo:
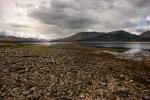
<svg viewBox="0 0 150 100">
<path fill-rule="evenodd" d="M 90 43 L 90 46 L 109 47 L 109 48 L 124 48 L 123 52 L 109 52 L 116 55 L 117 58 L 132 59 L 142 61 L 150 58 L 150 42 L 125 42 L 125 43 Z"/>
</svg>

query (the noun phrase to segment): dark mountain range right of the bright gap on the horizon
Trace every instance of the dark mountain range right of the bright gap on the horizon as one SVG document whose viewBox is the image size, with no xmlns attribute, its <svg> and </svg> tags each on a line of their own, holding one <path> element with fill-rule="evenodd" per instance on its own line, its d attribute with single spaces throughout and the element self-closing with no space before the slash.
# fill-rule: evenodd
<svg viewBox="0 0 150 100">
<path fill-rule="evenodd" d="M 150 41 L 150 31 L 134 35 L 124 30 L 113 32 L 80 32 L 53 42 L 137 42 Z"/>
</svg>

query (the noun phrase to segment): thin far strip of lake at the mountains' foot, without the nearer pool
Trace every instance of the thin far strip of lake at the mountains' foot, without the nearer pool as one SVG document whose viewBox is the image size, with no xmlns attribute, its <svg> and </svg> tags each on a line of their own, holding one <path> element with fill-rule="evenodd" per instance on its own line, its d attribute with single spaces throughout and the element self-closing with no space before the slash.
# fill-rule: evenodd
<svg viewBox="0 0 150 100">
<path fill-rule="evenodd" d="M 28 43 L 28 44 L 51 46 L 56 44 L 69 44 L 69 43 L 72 42 L 36 42 L 36 43 Z M 150 50 L 150 42 L 82 42 L 82 43 L 75 42 L 75 43 L 82 44 L 83 46 L 92 46 L 92 47 Z"/>
</svg>

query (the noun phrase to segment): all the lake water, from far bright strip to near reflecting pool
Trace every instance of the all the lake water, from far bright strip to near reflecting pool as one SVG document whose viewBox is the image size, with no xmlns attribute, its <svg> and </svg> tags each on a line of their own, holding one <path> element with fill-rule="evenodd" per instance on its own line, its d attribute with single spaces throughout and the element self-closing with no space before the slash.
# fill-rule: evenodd
<svg viewBox="0 0 150 100">
<path fill-rule="evenodd" d="M 71 42 L 40 42 L 40 43 L 29 43 L 34 45 L 52 46 L 56 44 L 69 44 Z M 83 46 L 89 47 L 106 47 L 123 49 L 123 52 L 110 52 L 103 51 L 110 54 L 114 54 L 117 58 L 131 59 L 136 61 L 142 61 L 145 59 L 150 60 L 150 42 L 76 42 Z"/>
</svg>

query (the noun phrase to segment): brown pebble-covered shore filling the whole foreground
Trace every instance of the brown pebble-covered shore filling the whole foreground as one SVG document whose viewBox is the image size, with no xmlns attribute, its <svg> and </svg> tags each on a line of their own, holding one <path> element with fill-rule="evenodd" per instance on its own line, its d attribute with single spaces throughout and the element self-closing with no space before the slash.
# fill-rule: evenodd
<svg viewBox="0 0 150 100">
<path fill-rule="evenodd" d="M 0 100 L 150 100 L 150 61 L 105 49 L 0 46 Z"/>
</svg>

